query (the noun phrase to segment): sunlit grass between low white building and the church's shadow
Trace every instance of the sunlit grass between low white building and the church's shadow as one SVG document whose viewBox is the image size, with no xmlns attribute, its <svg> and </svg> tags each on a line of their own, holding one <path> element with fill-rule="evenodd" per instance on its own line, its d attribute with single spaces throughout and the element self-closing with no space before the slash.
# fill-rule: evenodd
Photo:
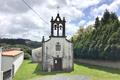
<svg viewBox="0 0 120 80">
<path fill-rule="evenodd" d="M 24 60 L 20 69 L 17 71 L 14 80 L 27 80 L 36 77 L 36 74 L 34 74 L 36 67 L 37 64 L 31 63 L 29 60 Z"/>
</svg>

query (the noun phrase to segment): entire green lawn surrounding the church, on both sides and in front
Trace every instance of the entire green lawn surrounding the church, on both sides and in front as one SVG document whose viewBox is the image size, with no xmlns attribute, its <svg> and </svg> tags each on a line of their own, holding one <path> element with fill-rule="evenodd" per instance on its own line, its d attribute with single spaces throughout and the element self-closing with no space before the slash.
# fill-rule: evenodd
<svg viewBox="0 0 120 80">
<path fill-rule="evenodd" d="M 41 72 L 40 65 L 31 63 L 29 60 L 24 60 L 22 66 L 17 71 L 14 80 L 29 80 L 34 77 L 50 76 L 55 74 L 62 75 L 85 75 L 91 80 L 120 80 L 120 69 L 111 69 L 100 66 L 92 66 L 86 64 L 75 64 L 74 71 L 65 72 Z"/>
</svg>

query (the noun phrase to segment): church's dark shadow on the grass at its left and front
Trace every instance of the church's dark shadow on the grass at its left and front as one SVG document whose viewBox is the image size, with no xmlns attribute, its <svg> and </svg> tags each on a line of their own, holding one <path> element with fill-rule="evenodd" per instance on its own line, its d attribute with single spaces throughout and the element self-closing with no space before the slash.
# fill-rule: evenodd
<svg viewBox="0 0 120 80">
<path fill-rule="evenodd" d="M 37 74 L 37 75 L 55 75 L 55 74 L 62 74 L 62 73 L 69 73 L 69 72 L 65 72 L 65 71 L 43 72 L 41 64 L 38 64 L 34 71 L 34 74 Z"/>
</svg>

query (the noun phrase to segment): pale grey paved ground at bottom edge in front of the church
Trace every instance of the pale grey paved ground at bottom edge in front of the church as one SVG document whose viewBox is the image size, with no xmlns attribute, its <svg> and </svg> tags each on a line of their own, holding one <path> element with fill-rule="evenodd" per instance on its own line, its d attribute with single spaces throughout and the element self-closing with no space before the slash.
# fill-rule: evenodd
<svg viewBox="0 0 120 80">
<path fill-rule="evenodd" d="M 90 78 L 83 75 L 52 75 L 31 80 L 90 80 Z"/>
</svg>

